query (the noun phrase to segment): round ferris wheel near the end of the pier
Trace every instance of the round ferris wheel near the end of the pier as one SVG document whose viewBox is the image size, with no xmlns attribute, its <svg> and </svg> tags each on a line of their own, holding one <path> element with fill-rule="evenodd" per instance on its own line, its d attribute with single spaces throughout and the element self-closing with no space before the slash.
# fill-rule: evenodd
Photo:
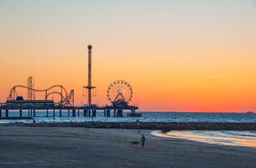
<svg viewBox="0 0 256 168">
<path fill-rule="evenodd" d="M 113 81 L 108 87 L 110 102 L 129 102 L 132 98 L 132 87 L 123 80 Z"/>
</svg>

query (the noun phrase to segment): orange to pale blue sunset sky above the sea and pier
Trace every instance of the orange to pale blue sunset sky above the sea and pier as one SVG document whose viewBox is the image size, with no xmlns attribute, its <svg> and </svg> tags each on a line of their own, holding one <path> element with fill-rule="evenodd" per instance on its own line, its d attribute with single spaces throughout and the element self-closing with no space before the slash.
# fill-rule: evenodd
<svg viewBox="0 0 256 168">
<path fill-rule="evenodd" d="M 141 111 L 256 111 L 255 0 L 0 0 L 0 102 L 29 76 L 86 102 L 89 43 L 95 104 L 125 80 Z"/>
</svg>

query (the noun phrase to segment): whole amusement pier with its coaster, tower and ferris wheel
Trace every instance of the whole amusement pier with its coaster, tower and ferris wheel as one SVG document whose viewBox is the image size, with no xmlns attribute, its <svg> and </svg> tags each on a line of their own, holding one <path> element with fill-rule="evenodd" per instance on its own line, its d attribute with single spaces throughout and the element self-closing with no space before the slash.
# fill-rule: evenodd
<svg viewBox="0 0 256 168">
<path fill-rule="evenodd" d="M 28 85 L 15 85 L 11 88 L 10 94 L 6 102 L 0 103 L 0 117 L 9 117 L 9 112 L 19 113 L 21 118 L 23 113 L 27 113 L 29 117 L 36 117 L 36 113 L 45 113 L 49 117 L 49 112 L 53 117 L 62 116 L 63 113 L 68 113 L 68 116 L 97 116 L 97 111 L 104 111 L 104 116 L 124 116 L 123 111 L 130 111 L 127 116 L 140 117 L 141 113 L 136 113 L 138 106 L 130 106 L 129 102 L 132 99 L 132 87 L 124 80 L 113 81 L 108 87 L 108 100 L 111 106 L 98 106 L 92 103 L 92 95 L 97 94 L 96 87 L 92 86 L 92 46 L 88 45 L 88 85 L 83 87 L 86 89 L 85 96 L 88 97 L 88 102 L 84 106 L 74 106 L 74 90 L 68 92 L 62 85 L 52 85 L 52 87 L 44 90 L 34 88 L 35 78 L 29 76 Z M 28 92 L 27 99 L 19 94 L 18 89 L 25 89 Z M 44 100 L 36 99 L 36 93 L 44 93 Z M 84 90 L 83 90 L 84 92 Z M 60 101 L 54 102 L 51 95 L 60 95 Z M 58 114 L 57 114 L 58 113 Z M 42 115 L 41 115 L 42 116 Z"/>
</svg>

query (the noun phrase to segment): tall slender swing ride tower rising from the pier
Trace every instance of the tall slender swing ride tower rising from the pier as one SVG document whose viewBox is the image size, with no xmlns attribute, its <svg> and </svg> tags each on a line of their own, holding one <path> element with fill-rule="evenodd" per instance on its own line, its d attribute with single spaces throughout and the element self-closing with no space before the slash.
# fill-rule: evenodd
<svg viewBox="0 0 256 168">
<path fill-rule="evenodd" d="M 92 106 L 92 46 L 88 45 L 88 85 L 84 87 L 88 89 L 88 106 Z"/>
</svg>

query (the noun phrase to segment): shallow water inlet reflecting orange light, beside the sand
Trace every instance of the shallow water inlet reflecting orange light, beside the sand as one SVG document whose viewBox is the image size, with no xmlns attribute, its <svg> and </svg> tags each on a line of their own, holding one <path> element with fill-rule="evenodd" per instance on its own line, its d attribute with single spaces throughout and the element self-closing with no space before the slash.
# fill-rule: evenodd
<svg viewBox="0 0 256 168">
<path fill-rule="evenodd" d="M 202 143 L 248 146 L 256 148 L 256 131 L 239 130 L 172 130 L 170 132 L 152 132 L 155 136 L 188 139 Z"/>
</svg>

